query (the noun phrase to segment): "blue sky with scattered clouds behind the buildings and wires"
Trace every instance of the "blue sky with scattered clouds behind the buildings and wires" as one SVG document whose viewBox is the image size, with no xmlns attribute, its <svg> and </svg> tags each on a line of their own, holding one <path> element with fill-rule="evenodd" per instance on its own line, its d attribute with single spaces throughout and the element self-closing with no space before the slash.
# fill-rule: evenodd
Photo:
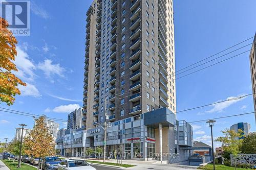
<svg viewBox="0 0 256 170">
<path fill-rule="evenodd" d="M 18 57 L 15 61 L 20 70 L 19 77 L 28 86 L 22 89 L 23 95 L 16 97 L 14 105 L 8 107 L 1 103 L 0 107 L 66 119 L 69 112 L 82 105 L 85 19 L 91 2 L 31 2 L 31 36 L 17 37 Z M 174 1 L 176 70 L 254 36 L 255 6 L 253 0 Z M 230 56 L 232 54 L 223 59 Z M 183 75 L 185 73 L 180 76 Z M 178 79 L 176 88 L 178 111 L 249 94 L 252 92 L 249 52 Z M 253 100 L 249 96 L 178 113 L 177 117 L 193 122 L 251 111 Z M 238 122 L 248 122 L 251 131 L 256 131 L 254 115 L 249 114 L 218 120 L 214 136 L 220 136 L 221 130 Z M 20 123 L 32 128 L 34 121 L 30 117 L 0 112 L 0 141 L 5 137 L 12 139 Z M 60 123 L 60 127 L 65 124 Z M 194 139 L 209 143 L 207 125 L 197 123 L 193 127 Z"/>
</svg>

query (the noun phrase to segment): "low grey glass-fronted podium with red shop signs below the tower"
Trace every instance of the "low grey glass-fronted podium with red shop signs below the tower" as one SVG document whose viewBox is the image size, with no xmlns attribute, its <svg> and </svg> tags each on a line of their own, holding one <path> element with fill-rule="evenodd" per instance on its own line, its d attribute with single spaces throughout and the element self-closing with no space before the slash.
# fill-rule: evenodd
<svg viewBox="0 0 256 170">
<path fill-rule="evenodd" d="M 69 129 L 56 139 L 56 145 L 62 148 L 62 156 L 83 157 L 86 148 L 103 146 L 103 134 L 100 126 Z M 163 162 L 189 164 L 192 154 L 187 149 L 193 147 L 192 127 L 184 120 L 176 120 L 167 108 L 113 122 L 107 128 L 107 136 L 106 155 L 112 158 L 119 150 L 123 159 L 160 160 L 162 155 Z"/>
</svg>

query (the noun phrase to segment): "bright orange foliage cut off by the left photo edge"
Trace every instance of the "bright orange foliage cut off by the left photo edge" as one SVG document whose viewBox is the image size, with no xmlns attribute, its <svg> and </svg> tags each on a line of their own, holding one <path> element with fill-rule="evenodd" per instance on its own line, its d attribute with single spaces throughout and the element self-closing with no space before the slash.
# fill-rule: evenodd
<svg viewBox="0 0 256 170">
<path fill-rule="evenodd" d="M 12 105 L 14 96 L 20 94 L 18 84 L 26 84 L 17 78 L 12 71 L 18 71 L 13 63 L 17 56 L 17 40 L 8 30 L 8 22 L 0 17 L 0 101 Z"/>
</svg>

